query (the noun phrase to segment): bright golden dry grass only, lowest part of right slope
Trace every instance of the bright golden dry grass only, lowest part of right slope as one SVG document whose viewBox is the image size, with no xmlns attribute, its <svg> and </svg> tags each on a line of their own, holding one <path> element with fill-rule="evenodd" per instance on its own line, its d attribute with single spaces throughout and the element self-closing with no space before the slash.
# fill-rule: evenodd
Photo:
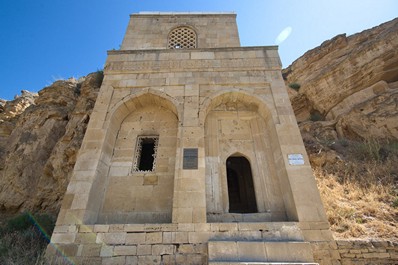
<svg viewBox="0 0 398 265">
<path fill-rule="evenodd" d="M 398 210 L 394 196 L 381 185 L 363 189 L 339 183 L 333 175 L 315 171 L 331 229 L 338 238 L 398 239 Z"/>
</svg>

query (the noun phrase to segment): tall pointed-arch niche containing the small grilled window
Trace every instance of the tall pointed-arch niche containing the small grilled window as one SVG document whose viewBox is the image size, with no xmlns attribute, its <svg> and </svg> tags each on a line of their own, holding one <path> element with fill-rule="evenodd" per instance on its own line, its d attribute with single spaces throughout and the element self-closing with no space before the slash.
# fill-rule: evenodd
<svg viewBox="0 0 398 265">
<path fill-rule="evenodd" d="M 97 223 L 170 223 L 176 108 L 147 93 L 127 98 L 115 109 L 108 126 L 110 162 Z"/>
</svg>

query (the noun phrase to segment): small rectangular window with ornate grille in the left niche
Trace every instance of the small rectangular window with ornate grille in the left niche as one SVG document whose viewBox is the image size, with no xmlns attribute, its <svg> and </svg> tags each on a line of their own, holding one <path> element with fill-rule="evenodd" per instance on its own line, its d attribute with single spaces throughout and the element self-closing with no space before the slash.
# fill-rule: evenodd
<svg viewBox="0 0 398 265">
<path fill-rule="evenodd" d="M 138 136 L 133 171 L 155 171 L 158 142 L 159 136 Z"/>
</svg>

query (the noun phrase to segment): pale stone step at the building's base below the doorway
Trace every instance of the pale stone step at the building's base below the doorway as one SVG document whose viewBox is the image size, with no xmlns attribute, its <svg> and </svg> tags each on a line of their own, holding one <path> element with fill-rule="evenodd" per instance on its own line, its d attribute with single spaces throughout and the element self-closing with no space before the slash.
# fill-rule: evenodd
<svg viewBox="0 0 398 265">
<path fill-rule="evenodd" d="M 209 241 L 208 254 L 209 264 L 314 264 L 308 242 Z"/>
</svg>

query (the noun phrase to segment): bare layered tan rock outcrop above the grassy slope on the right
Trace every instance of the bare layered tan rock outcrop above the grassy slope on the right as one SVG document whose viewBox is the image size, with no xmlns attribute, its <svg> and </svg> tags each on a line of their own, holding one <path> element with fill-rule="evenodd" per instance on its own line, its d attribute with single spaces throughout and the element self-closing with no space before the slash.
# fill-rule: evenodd
<svg viewBox="0 0 398 265">
<path fill-rule="evenodd" d="M 289 92 L 298 121 L 335 121 L 340 138 L 398 139 L 397 32 L 398 18 L 338 35 L 285 69 L 301 86 Z"/>
</svg>

